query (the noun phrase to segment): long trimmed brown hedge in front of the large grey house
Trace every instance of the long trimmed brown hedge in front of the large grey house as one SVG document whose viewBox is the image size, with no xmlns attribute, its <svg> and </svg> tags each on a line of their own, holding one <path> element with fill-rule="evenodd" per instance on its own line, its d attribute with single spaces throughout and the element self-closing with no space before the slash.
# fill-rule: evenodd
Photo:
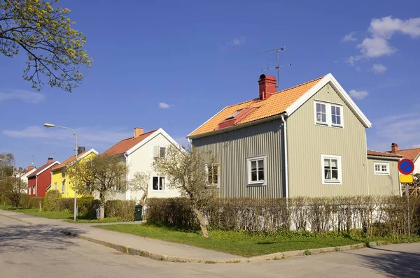
<svg viewBox="0 0 420 278">
<path fill-rule="evenodd" d="M 282 229 L 373 236 L 407 234 L 407 200 L 400 196 L 333 198 L 219 198 L 202 207 L 210 226 L 231 231 L 272 233 Z M 149 222 L 197 229 L 188 198 L 149 198 Z M 411 231 L 420 232 L 420 198 L 410 199 Z"/>
</svg>

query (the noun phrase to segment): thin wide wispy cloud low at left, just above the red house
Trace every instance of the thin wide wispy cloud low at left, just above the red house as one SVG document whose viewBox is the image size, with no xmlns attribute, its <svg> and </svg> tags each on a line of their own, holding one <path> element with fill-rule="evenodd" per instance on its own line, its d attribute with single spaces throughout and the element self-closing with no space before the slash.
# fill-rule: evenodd
<svg viewBox="0 0 420 278">
<path fill-rule="evenodd" d="M 119 129 L 98 128 L 98 127 L 76 127 L 74 128 L 78 133 L 80 145 L 86 147 L 94 147 L 102 145 L 104 147 L 111 147 L 116 142 L 132 137 L 132 132 L 121 131 Z M 65 129 L 46 129 L 43 126 L 27 126 L 20 130 L 4 130 L 3 135 L 18 138 L 18 139 L 42 139 L 43 142 L 50 144 L 50 142 L 57 142 L 57 140 L 64 140 L 73 142 L 74 138 L 71 131 Z"/>
</svg>

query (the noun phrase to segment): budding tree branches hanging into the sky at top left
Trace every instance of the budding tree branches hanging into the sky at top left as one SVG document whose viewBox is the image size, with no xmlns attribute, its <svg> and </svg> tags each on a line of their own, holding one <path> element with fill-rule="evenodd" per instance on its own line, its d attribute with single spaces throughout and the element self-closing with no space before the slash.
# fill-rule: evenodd
<svg viewBox="0 0 420 278">
<path fill-rule="evenodd" d="M 51 87 L 71 92 L 83 80 L 80 66 L 91 66 L 83 46 L 86 37 L 67 17 L 68 8 L 45 0 L 0 0 L 0 52 L 14 57 L 28 55 L 23 77 L 40 90 Z M 40 76 L 41 75 L 41 76 Z"/>
</svg>

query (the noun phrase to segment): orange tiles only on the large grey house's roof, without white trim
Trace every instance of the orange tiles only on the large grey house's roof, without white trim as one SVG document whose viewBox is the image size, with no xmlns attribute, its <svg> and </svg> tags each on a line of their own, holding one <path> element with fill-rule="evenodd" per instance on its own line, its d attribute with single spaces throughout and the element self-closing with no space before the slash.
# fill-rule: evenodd
<svg viewBox="0 0 420 278">
<path fill-rule="evenodd" d="M 245 124 L 248 122 L 253 122 L 258 119 L 264 119 L 267 117 L 272 117 L 274 115 L 279 115 L 283 113 L 286 110 L 286 108 L 288 108 L 292 103 L 297 101 L 297 98 L 300 98 L 300 96 L 302 96 L 309 89 L 311 89 L 311 87 L 314 87 L 314 85 L 316 85 L 316 83 L 322 78 L 323 76 L 308 82 L 304 82 L 295 87 L 283 89 L 280 92 L 272 94 L 272 96 L 263 101 L 261 101 L 259 98 L 255 98 L 251 101 L 245 101 L 242 103 L 237 103 L 235 105 L 230 105 L 223 109 L 221 112 L 218 112 L 217 115 L 209 119 L 208 122 L 204 123 L 197 130 L 193 131 L 193 133 L 191 133 L 190 136 L 197 136 L 201 133 L 207 133 L 216 130 L 220 122 L 226 119 L 233 112 L 244 108 L 257 109 L 255 109 L 249 115 L 244 117 L 244 119 L 241 119 L 239 122 L 237 122 L 235 126 Z"/>
</svg>

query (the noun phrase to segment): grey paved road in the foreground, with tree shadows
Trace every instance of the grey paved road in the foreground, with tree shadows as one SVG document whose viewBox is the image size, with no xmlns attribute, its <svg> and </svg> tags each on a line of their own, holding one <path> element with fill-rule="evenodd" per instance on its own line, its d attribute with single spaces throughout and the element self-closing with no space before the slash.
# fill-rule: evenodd
<svg viewBox="0 0 420 278">
<path fill-rule="evenodd" d="M 420 277 L 420 244 L 262 263 L 167 263 L 0 216 L 0 277 Z"/>
</svg>

